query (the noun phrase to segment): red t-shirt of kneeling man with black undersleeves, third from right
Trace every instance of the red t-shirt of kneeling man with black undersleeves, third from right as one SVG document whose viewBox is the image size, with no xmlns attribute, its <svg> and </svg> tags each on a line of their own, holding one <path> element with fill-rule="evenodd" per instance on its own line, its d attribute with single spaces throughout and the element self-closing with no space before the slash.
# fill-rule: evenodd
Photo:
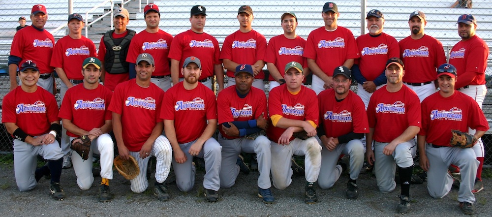
<svg viewBox="0 0 492 217">
<path fill-rule="evenodd" d="M 368 133 L 368 117 L 361 97 L 352 91 L 337 102 L 333 89 L 318 94 L 320 125 L 325 129 L 326 137 L 338 138 L 350 132 Z"/>
</svg>

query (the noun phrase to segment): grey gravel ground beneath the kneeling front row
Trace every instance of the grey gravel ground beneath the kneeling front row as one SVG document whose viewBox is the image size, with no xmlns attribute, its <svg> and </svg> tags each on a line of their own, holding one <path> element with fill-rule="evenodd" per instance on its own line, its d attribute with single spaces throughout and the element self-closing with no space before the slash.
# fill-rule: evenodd
<svg viewBox="0 0 492 217">
<path fill-rule="evenodd" d="M 406 215 L 396 212 L 400 186 L 391 193 L 380 193 L 371 174 L 361 174 L 357 184 L 359 199 L 345 198 L 347 175 L 342 175 L 331 189 L 317 187 L 318 203 L 304 203 L 303 177 L 293 177 L 291 186 L 285 190 L 273 189 L 275 203 L 267 205 L 257 196 L 257 171 L 249 175 L 240 174 L 236 185 L 220 189 L 220 200 L 209 203 L 203 196 L 203 174 L 196 175 L 195 187 L 187 193 L 180 192 L 176 185 L 168 185 L 171 200 L 158 201 L 153 193 L 154 178 L 150 187 L 141 194 L 131 192 L 130 183 L 115 170 L 111 181 L 114 199 L 107 203 L 98 202 L 100 177 L 96 177 L 92 188 L 77 187 L 72 168 L 62 172 L 62 186 L 67 197 L 56 201 L 49 195 L 49 180 L 44 178 L 33 190 L 19 192 L 15 184 L 12 165 L 0 166 L 0 213 L 2 216 L 49 216 L 49 217 L 137 217 L 137 216 L 464 216 L 458 207 L 458 190 L 453 189 L 442 199 L 433 199 L 427 193 L 426 183 L 410 188 L 412 210 Z M 476 195 L 476 216 L 492 216 L 490 179 L 484 180 L 486 189 Z"/>
</svg>

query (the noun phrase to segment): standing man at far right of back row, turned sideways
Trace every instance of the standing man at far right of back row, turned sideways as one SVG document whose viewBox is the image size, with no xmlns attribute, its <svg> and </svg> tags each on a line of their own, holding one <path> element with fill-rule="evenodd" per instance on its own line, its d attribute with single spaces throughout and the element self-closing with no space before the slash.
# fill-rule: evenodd
<svg viewBox="0 0 492 217">
<path fill-rule="evenodd" d="M 449 55 L 449 64 L 456 67 L 456 73 L 460 79 L 456 81 L 455 89 L 473 98 L 480 108 L 487 94 L 485 86 L 485 70 L 489 57 L 489 46 L 476 35 L 477 20 L 471 14 L 463 14 L 458 18 L 458 34 L 461 41 L 453 46 Z M 469 129 L 474 134 L 473 129 Z M 484 143 L 479 138 L 473 151 L 480 161 L 477 178 L 472 192 L 477 193 L 484 188 L 482 183 L 482 167 L 484 165 Z"/>
</svg>

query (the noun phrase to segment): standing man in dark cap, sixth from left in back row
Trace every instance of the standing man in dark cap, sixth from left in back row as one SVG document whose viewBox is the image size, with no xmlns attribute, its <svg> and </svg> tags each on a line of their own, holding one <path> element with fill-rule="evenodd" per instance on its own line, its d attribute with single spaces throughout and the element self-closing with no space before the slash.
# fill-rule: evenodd
<svg viewBox="0 0 492 217">
<path fill-rule="evenodd" d="M 265 66 L 267 39 L 251 28 L 254 16 L 250 6 L 239 7 L 237 18 L 239 30 L 225 38 L 220 52 L 220 59 L 224 62 L 229 77 L 227 86 L 236 85 L 234 72 L 238 65 L 250 64 L 254 71 L 253 87 L 265 91 L 263 66 Z"/>
</svg>

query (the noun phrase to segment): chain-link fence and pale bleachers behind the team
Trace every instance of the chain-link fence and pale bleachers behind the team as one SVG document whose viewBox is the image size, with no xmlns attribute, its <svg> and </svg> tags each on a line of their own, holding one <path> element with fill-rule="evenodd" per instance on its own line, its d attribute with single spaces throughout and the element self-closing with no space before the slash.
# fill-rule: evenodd
<svg viewBox="0 0 492 217">
<path fill-rule="evenodd" d="M 94 5 L 98 5 L 103 0 L 73 0 L 73 12 L 83 14 L 84 19 L 92 21 L 97 19 L 102 14 L 106 13 L 111 8 L 111 2 L 107 6 L 103 6 L 92 10 Z M 124 1 L 124 7 L 130 12 L 129 29 L 137 32 L 145 29 L 145 21 L 143 15 L 143 7 L 147 1 L 129 0 Z M 207 23 L 205 31 L 214 35 L 221 46 L 225 37 L 239 29 L 239 23 L 236 19 L 239 6 L 249 4 L 254 11 L 253 29 L 264 34 L 267 41 L 283 31 L 280 26 L 280 16 L 285 11 L 295 12 L 298 17 L 299 26 L 297 33 L 307 39 L 307 35 L 314 29 L 323 26 L 321 18 L 321 10 L 326 1 L 321 0 L 306 0 L 300 5 L 294 0 L 202 0 L 202 1 L 179 1 L 179 0 L 154 0 L 159 6 L 161 12 L 160 28 L 176 35 L 190 28 L 189 10 L 193 5 L 201 4 L 207 9 Z M 115 0 L 113 3 L 119 4 L 121 1 Z M 492 2 L 491 1 L 476 1 L 473 2 L 472 8 L 451 8 L 455 3 L 454 0 L 429 0 L 415 4 L 413 1 L 403 0 L 344 0 L 335 1 L 338 4 L 340 16 L 338 25 L 350 29 L 354 36 L 367 33 L 365 17 L 367 11 L 371 9 L 379 9 L 385 16 L 384 32 L 393 35 L 397 40 L 401 40 L 410 34 L 408 27 L 408 15 L 415 11 L 421 10 L 426 13 L 427 26 L 426 34 L 429 34 L 439 39 L 449 56 L 449 52 L 454 44 L 461 38 L 457 32 L 456 21 L 461 14 L 471 13 L 478 20 L 477 35 L 482 37 L 492 47 Z M 47 7 L 49 19 L 45 26 L 48 31 L 66 24 L 66 18 L 69 11 L 68 0 L 46 0 L 43 4 Z M 7 57 L 10 50 L 10 43 L 15 34 L 15 29 L 20 16 L 27 19 L 27 24 L 30 25 L 29 14 L 33 3 L 19 3 L 16 0 L 0 1 L 0 97 L 9 90 L 9 78 L 6 69 Z M 85 13 L 91 10 L 87 17 Z M 102 33 L 110 30 L 111 18 L 103 18 L 89 28 L 89 38 L 96 44 L 98 43 Z M 67 29 L 61 28 L 60 31 L 52 32 L 55 39 L 58 40 L 67 34 Z M 83 31 L 85 34 L 85 31 Z M 487 68 L 487 87 L 489 89 L 485 98 L 483 111 L 490 122 L 492 122 L 492 55 L 489 56 L 489 67 Z M 266 67 L 264 68 L 266 69 Z M 57 79 L 57 84 L 60 80 Z M 310 87 L 308 80 L 307 87 Z M 268 82 L 265 82 L 265 88 L 268 90 Z M 352 90 L 357 92 L 357 86 L 353 85 Z M 267 93 L 268 94 L 268 93 Z M 59 94 L 56 94 L 57 100 L 60 102 Z M 12 151 L 12 139 L 5 132 L 3 124 L 0 125 L 0 152 Z M 492 165 L 492 135 L 489 131 L 483 138 L 486 145 L 486 162 L 487 165 Z"/>
</svg>

